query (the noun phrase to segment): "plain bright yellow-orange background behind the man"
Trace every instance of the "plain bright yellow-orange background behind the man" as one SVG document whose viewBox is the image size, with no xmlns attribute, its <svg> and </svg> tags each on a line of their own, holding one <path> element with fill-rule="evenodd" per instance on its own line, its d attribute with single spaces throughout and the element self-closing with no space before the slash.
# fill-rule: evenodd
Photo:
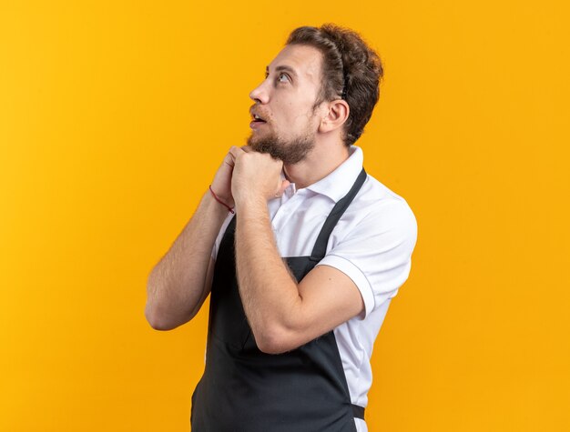
<svg viewBox="0 0 570 432">
<path fill-rule="evenodd" d="M 265 65 L 324 22 L 382 56 L 358 145 L 418 220 L 370 430 L 570 430 L 569 21 L 563 0 L 2 0 L 0 430 L 188 431 L 209 304 L 153 330 L 148 272 Z"/>
</svg>

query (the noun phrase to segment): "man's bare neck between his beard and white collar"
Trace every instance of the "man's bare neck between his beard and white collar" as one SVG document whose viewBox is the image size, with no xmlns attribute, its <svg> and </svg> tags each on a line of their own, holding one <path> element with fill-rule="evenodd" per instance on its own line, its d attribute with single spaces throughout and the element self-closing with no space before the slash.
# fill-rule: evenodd
<svg viewBox="0 0 570 432">
<path fill-rule="evenodd" d="M 317 183 L 331 174 L 350 156 L 349 149 L 342 143 L 317 143 L 310 154 L 294 165 L 284 165 L 285 177 L 295 184 L 295 189 Z"/>
</svg>

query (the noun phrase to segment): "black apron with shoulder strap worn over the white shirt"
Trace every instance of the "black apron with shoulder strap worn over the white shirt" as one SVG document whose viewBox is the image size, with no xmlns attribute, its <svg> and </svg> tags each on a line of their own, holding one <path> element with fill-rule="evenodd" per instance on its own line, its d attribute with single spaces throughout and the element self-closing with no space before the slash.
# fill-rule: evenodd
<svg viewBox="0 0 570 432">
<path fill-rule="evenodd" d="M 326 254 L 332 229 L 360 190 L 362 168 L 350 192 L 331 210 L 310 256 L 289 256 L 299 282 Z M 193 432 L 356 432 L 339 348 L 331 330 L 282 354 L 255 343 L 239 296 L 234 216 L 222 237 L 209 304 L 204 375 L 192 395 Z"/>
</svg>

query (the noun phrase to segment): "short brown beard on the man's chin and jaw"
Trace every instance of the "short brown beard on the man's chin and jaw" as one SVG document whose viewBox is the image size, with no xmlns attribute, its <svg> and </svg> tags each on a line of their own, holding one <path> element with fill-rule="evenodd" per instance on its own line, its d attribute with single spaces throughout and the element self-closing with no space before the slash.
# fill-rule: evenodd
<svg viewBox="0 0 570 432">
<path fill-rule="evenodd" d="M 248 138 L 248 146 L 256 152 L 268 153 L 274 159 L 283 161 L 283 165 L 295 165 L 309 155 L 315 146 L 315 137 L 309 131 L 290 140 L 273 133 L 258 138 L 252 133 Z"/>
</svg>

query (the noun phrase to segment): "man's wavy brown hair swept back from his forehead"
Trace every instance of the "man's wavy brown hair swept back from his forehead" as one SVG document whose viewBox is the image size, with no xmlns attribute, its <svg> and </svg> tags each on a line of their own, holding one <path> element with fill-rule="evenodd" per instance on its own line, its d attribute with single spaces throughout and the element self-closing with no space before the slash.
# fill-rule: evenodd
<svg viewBox="0 0 570 432">
<path fill-rule="evenodd" d="M 323 55 L 323 101 L 344 99 L 350 107 L 344 124 L 344 144 L 351 146 L 364 130 L 380 95 L 383 75 L 380 57 L 356 32 L 338 25 L 303 26 L 293 30 L 286 45 L 310 45 Z"/>
</svg>

